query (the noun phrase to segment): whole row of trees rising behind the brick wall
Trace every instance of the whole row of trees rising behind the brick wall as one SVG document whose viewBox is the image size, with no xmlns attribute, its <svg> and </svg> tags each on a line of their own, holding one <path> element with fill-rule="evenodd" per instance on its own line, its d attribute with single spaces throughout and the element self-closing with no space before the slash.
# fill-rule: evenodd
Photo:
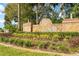
<svg viewBox="0 0 79 59">
<path fill-rule="evenodd" d="M 19 21 L 18 21 L 18 5 Z M 58 9 L 58 12 L 55 11 Z M 20 29 L 22 24 L 31 21 L 38 24 L 43 17 L 50 18 L 54 23 L 62 22 L 64 18 L 79 18 L 79 4 L 75 3 L 11 3 L 5 8 L 5 23 L 11 24 L 12 20 L 18 22 Z"/>
</svg>

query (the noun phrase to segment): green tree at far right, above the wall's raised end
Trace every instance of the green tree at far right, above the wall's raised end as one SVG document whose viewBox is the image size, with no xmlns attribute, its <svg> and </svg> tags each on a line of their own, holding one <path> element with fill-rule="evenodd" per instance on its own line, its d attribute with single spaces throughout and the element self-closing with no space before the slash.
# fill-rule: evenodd
<svg viewBox="0 0 79 59">
<path fill-rule="evenodd" d="M 64 18 L 71 18 L 71 19 L 79 18 L 79 4 L 78 3 L 62 3 L 60 5 L 61 5 L 61 13 L 65 14 Z"/>
</svg>

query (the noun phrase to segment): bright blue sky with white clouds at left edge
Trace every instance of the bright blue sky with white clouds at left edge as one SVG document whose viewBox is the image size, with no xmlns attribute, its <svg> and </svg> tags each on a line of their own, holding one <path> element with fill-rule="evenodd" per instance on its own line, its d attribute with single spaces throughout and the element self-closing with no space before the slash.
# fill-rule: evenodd
<svg viewBox="0 0 79 59">
<path fill-rule="evenodd" d="M 5 17 L 5 13 L 2 13 L 4 11 L 6 7 L 6 4 L 2 4 L 0 3 L 0 28 L 3 28 L 4 27 L 4 17 Z"/>
</svg>

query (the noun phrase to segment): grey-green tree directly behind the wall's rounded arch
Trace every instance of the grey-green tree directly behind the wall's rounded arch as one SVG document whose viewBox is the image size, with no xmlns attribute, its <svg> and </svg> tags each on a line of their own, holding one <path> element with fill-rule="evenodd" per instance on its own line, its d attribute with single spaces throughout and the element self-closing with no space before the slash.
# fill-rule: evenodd
<svg viewBox="0 0 79 59">
<path fill-rule="evenodd" d="M 40 22 L 43 17 L 46 18 L 57 18 L 57 13 L 54 11 L 54 8 L 57 3 L 39 3 L 39 4 L 32 4 L 34 6 L 33 10 L 36 13 L 36 24 Z"/>
</svg>

